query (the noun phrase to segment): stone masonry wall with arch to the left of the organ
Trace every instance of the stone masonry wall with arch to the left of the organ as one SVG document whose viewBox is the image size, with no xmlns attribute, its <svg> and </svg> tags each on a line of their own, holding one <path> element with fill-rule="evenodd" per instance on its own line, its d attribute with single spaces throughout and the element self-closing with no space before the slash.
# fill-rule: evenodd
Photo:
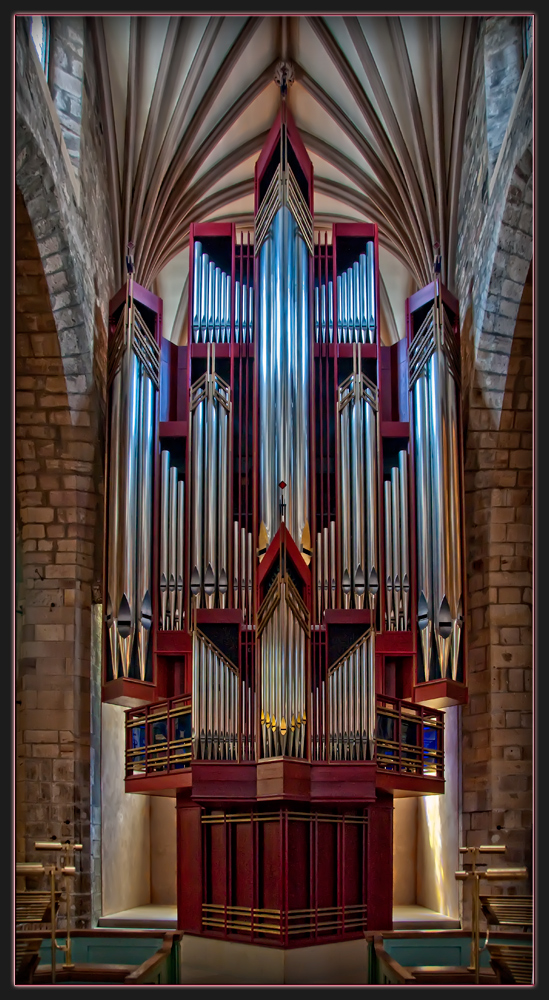
<svg viewBox="0 0 549 1000">
<path fill-rule="evenodd" d="M 76 926 L 85 927 L 100 915 L 92 605 L 102 573 L 106 329 L 116 289 L 89 40 L 84 33 L 78 177 L 31 45 L 17 17 L 17 857 L 35 859 L 38 837 L 81 840 L 73 899 Z"/>
</svg>

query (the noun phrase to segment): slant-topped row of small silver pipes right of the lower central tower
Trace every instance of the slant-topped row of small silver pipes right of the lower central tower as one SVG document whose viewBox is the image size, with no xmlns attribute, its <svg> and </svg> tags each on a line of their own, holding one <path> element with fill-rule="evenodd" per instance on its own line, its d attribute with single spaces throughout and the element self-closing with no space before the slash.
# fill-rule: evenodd
<svg viewBox="0 0 549 1000">
<path fill-rule="evenodd" d="M 375 639 L 368 630 L 328 672 L 331 760 L 370 760 L 375 746 Z"/>
</svg>

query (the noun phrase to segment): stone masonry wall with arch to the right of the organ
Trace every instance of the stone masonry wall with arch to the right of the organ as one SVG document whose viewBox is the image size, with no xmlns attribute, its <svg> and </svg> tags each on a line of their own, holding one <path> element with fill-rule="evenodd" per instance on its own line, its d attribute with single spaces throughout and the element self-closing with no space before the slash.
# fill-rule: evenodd
<svg viewBox="0 0 549 1000">
<path fill-rule="evenodd" d="M 532 56 L 491 176 L 480 19 L 465 134 L 457 254 L 465 411 L 469 704 L 462 712 L 462 838 L 531 862 Z M 501 19 L 509 20 L 509 19 Z M 505 34 L 505 32 L 503 33 Z M 503 36 L 502 36 L 503 37 Z M 496 60 L 497 61 L 497 60 Z M 494 127 L 494 122 L 490 123 Z M 495 859 L 494 859 L 495 860 Z M 524 893 L 531 883 L 492 885 Z M 464 918 L 470 918 L 468 895 Z"/>
</svg>

